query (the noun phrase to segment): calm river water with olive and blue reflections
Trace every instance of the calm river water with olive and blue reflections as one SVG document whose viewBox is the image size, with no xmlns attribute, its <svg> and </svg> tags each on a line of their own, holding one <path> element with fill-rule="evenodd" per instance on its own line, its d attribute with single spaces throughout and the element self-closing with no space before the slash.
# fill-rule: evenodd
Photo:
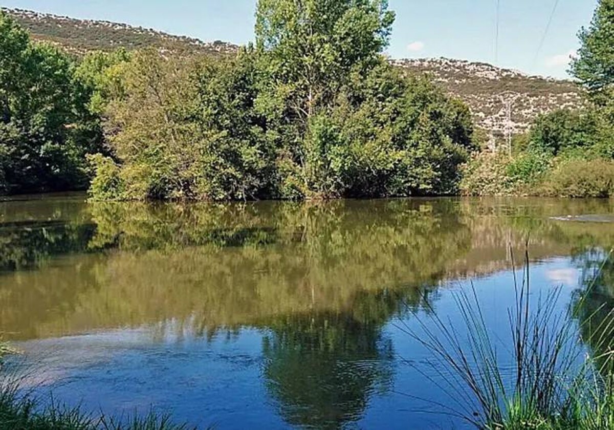
<svg viewBox="0 0 614 430">
<path fill-rule="evenodd" d="M 407 331 L 437 315 L 462 338 L 456 299 L 475 290 L 505 350 L 526 245 L 532 294 L 560 288 L 564 313 L 614 246 L 613 215 L 612 200 L 14 199 L 0 203 L 0 332 L 38 396 L 93 413 L 469 428 Z M 599 279 L 588 307 L 614 300 L 614 276 Z"/>
</svg>

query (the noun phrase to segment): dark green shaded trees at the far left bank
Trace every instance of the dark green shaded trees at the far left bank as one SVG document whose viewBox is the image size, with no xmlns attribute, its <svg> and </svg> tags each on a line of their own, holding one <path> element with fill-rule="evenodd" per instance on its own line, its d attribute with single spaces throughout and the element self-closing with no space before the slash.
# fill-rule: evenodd
<svg viewBox="0 0 614 430">
<path fill-rule="evenodd" d="M 0 13 L 2 192 L 87 186 L 85 154 L 101 149 L 99 121 L 71 58 L 29 41 Z"/>
</svg>

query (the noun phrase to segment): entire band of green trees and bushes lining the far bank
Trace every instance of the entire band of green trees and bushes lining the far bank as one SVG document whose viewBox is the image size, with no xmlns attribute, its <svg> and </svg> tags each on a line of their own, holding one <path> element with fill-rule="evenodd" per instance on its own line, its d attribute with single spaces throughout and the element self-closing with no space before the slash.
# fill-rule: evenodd
<svg viewBox="0 0 614 430">
<path fill-rule="evenodd" d="M 614 0 L 600 0 L 579 34 L 570 72 L 585 106 L 541 115 L 512 151 L 494 153 L 462 101 L 387 62 L 395 15 L 386 0 L 307 4 L 258 1 L 255 42 L 216 57 L 72 57 L 0 13 L 0 191 L 88 189 L 91 200 L 614 195 Z"/>
</svg>

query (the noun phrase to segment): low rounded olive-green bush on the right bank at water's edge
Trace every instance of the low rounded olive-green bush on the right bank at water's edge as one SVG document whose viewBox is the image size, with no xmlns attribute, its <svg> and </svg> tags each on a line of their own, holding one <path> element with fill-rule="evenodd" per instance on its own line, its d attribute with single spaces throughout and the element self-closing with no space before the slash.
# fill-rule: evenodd
<svg viewBox="0 0 614 430">
<path fill-rule="evenodd" d="M 555 197 L 614 197 L 614 161 L 563 161 L 538 192 Z"/>
</svg>

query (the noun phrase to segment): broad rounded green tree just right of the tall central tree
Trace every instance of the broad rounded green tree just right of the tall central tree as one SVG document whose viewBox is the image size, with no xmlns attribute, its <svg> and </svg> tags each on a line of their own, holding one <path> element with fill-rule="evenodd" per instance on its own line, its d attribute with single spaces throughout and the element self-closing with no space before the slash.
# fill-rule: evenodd
<svg viewBox="0 0 614 430">
<path fill-rule="evenodd" d="M 467 107 L 385 60 L 354 74 L 310 124 L 305 175 L 324 197 L 454 193 L 473 149 Z"/>
</svg>

